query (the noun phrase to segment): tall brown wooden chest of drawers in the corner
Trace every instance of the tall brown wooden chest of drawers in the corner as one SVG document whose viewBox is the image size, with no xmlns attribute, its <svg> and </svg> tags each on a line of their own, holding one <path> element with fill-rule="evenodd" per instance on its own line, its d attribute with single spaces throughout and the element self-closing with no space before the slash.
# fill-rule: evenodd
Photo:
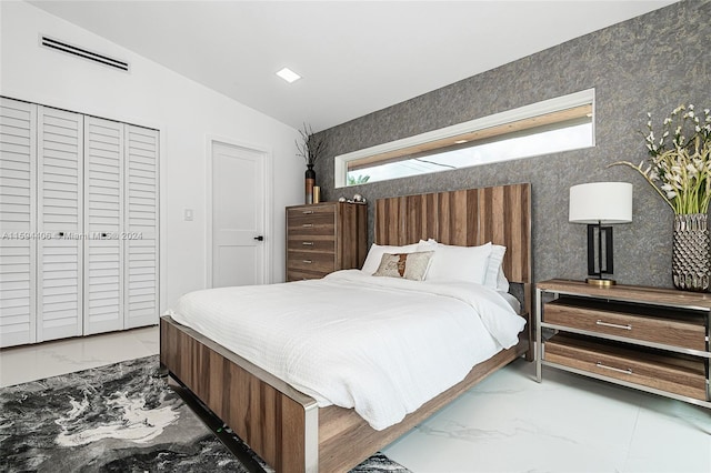
<svg viewBox="0 0 711 473">
<path fill-rule="evenodd" d="M 287 208 L 287 281 L 360 269 L 368 252 L 368 205 L 322 202 Z"/>
</svg>

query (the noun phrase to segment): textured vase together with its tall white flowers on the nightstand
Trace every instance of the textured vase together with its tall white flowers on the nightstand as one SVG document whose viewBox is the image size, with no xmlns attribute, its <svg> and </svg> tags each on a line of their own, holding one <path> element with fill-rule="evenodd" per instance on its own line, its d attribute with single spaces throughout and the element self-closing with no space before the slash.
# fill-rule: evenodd
<svg viewBox="0 0 711 473">
<path fill-rule="evenodd" d="M 698 113 L 693 104 L 679 105 L 664 118 L 657 134 L 647 114 L 644 141 L 649 158 L 637 170 L 674 212 L 672 280 L 682 290 L 711 289 L 711 240 L 708 212 L 711 201 L 711 111 Z"/>
</svg>

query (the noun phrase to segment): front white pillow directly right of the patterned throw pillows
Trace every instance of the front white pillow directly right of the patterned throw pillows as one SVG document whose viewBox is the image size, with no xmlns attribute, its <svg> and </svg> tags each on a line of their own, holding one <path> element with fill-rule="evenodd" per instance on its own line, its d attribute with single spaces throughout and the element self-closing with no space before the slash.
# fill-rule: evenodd
<svg viewBox="0 0 711 473">
<path fill-rule="evenodd" d="M 427 242 L 427 246 L 432 243 Z M 427 251 L 425 244 L 418 244 Z M 431 248 L 431 246 L 430 246 Z M 427 281 L 469 281 L 483 284 L 487 276 L 491 243 L 481 246 L 455 246 L 437 243 L 434 258 L 424 278 Z"/>
</svg>

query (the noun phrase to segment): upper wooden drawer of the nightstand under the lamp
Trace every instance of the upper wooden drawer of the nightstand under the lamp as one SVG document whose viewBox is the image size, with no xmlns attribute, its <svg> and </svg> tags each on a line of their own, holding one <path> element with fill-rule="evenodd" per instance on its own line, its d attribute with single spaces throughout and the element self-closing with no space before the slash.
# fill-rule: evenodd
<svg viewBox="0 0 711 473">
<path fill-rule="evenodd" d="M 644 342 L 662 343 L 704 351 L 707 330 L 703 321 L 669 313 L 669 318 L 637 315 L 630 313 L 582 306 L 574 299 L 559 299 L 543 304 L 543 321 L 588 332 L 623 336 Z"/>
</svg>

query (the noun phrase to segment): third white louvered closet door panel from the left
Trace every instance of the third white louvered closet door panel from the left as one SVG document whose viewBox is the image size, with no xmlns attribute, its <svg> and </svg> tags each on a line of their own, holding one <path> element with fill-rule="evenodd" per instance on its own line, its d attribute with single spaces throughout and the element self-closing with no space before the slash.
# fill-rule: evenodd
<svg viewBox="0 0 711 473">
<path fill-rule="evenodd" d="M 84 118 L 84 335 L 123 329 L 123 124 Z"/>
</svg>

